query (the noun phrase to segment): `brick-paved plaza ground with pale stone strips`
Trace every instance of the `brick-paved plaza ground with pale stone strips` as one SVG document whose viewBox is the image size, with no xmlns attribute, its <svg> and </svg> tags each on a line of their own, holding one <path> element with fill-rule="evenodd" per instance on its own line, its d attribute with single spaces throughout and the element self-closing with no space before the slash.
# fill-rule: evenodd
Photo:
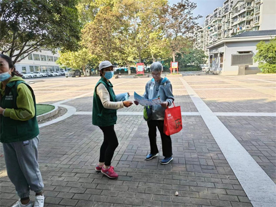
<svg viewBox="0 0 276 207">
<path fill-rule="evenodd" d="M 118 110 L 115 180 L 94 170 L 103 140 L 91 116 L 98 79 L 47 78 L 31 85 L 38 103 L 68 110 L 40 125 L 45 206 L 276 206 L 275 74 L 169 77 L 183 130 L 172 136 L 174 160 L 167 165 L 160 164 L 159 134 L 159 157 L 145 160 L 150 142 L 143 107 Z M 115 93 L 129 92 L 133 100 L 148 80 L 111 82 Z M 0 205 L 11 206 L 18 196 L 0 150 Z"/>
</svg>

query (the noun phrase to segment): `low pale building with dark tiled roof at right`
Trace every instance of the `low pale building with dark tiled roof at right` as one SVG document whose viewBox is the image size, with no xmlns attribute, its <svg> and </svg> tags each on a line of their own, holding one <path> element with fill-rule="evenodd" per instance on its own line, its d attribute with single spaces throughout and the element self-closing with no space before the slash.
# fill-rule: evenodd
<svg viewBox="0 0 276 207">
<path fill-rule="evenodd" d="M 271 38 L 276 37 L 276 30 L 249 31 L 231 38 L 221 39 L 208 46 L 210 71 L 221 75 L 237 75 L 238 66 L 233 66 L 233 56 L 245 54 L 252 57 L 256 54 L 256 44 L 260 41 L 269 42 Z M 246 65 L 245 74 L 256 74 L 260 72 L 258 63 L 252 61 L 252 64 Z"/>
</svg>

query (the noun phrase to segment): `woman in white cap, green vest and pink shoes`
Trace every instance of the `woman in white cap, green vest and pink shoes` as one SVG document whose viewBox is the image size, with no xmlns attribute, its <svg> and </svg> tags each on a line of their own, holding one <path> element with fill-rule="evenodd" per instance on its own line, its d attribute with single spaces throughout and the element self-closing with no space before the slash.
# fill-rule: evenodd
<svg viewBox="0 0 276 207">
<path fill-rule="evenodd" d="M 118 174 L 111 166 L 111 160 L 115 149 L 118 146 L 118 139 L 114 131 L 117 121 L 117 110 L 123 107 L 130 107 L 129 100 L 116 101 L 113 85 L 109 81 L 114 72 L 109 61 L 102 61 L 99 65 L 100 80 L 97 82 L 93 96 L 92 124 L 98 126 L 103 132 L 103 143 L 100 148 L 99 163 L 96 171 L 102 172 L 109 178 L 117 178 Z"/>
</svg>

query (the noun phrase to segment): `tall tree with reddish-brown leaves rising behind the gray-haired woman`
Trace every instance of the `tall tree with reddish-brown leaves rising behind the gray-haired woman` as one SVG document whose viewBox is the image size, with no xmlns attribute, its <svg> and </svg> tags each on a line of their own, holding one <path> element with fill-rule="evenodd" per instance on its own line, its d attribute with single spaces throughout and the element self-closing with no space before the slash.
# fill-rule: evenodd
<svg viewBox="0 0 276 207">
<path fill-rule="evenodd" d="M 167 5 L 164 8 L 166 15 L 161 18 L 161 23 L 169 41 L 174 62 L 176 54 L 187 46 L 186 38 L 192 39 L 191 33 L 198 28 L 198 24 L 195 21 L 202 16 L 193 17 L 192 11 L 196 7 L 196 3 L 192 3 L 190 0 L 182 0 L 177 5 Z"/>
</svg>

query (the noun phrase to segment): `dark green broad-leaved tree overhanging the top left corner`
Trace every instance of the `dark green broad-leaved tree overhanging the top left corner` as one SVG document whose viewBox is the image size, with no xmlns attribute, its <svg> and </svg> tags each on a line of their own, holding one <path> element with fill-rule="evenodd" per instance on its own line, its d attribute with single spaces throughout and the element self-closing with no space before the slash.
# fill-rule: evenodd
<svg viewBox="0 0 276 207">
<path fill-rule="evenodd" d="M 40 49 L 77 50 L 81 23 L 77 0 L 2 0 L 0 52 L 14 63 Z"/>
</svg>

